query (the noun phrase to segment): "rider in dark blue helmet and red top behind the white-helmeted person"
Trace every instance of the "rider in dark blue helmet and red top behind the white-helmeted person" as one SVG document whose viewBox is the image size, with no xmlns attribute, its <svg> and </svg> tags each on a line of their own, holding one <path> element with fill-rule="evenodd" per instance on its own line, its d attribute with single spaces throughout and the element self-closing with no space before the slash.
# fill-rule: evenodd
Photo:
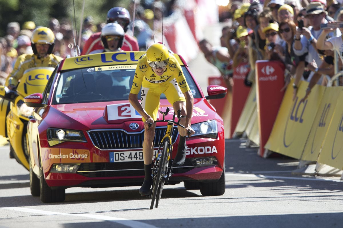
<svg viewBox="0 0 343 228">
<path fill-rule="evenodd" d="M 117 22 L 126 32 L 130 24 L 129 11 L 122 7 L 114 7 L 110 9 L 107 13 L 107 23 L 111 22 Z M 81 55 L 87 55 L 97 49 L 104 49 L 103 43 L 101 42 L 101 32 L 93 33 L 93 35 L 86 41 Z M 139 51 L 138 42 L 135 38 L 125 34 L 121 49 L 123 51 Z"/>
</svg>

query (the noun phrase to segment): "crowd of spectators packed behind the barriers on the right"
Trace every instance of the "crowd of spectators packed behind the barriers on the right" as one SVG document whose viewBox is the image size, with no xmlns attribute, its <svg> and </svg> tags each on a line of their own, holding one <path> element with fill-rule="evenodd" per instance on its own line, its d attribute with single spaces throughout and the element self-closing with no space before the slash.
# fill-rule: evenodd
<svg viewBox="0 0 343 228">
<path fill-rule="evenodd" d="M 221 47 L 205 39 L 199 41 L 199 47 L 230 85 L 232 69 L 239 64 L 250 67 L 246 82 L 253 83 L 257 60 L 281 61 L 286 69 L 285 85 L 294 78 L 293 99 L 299 82 L 309 82 L 305 99 L 315 84 L 327 85 L 334 76 L 334 51 L 343 61 L 340 7 L 332 0 L 234 1 L 225 18 L 220 16 L 225 23 Z M 342 61 L 337 63 L 339 70 Z"/>
</svg>

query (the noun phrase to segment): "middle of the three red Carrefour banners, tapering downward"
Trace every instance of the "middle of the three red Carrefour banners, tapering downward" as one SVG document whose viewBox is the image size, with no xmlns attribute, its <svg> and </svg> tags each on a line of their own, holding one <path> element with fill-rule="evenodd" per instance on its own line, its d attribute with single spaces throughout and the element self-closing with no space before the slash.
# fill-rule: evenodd
<svg viewBox="0 0 343 228">
<path fill-rule="evenodd" d="M 234 69 L 232 88 L 232 113 L 230 137 L 235 132 L 239 117 L 243 111 L 245 102 L 250 92 L 250 86 L 244 84 L 245 78 L 248 75 L 250 68 L 246 64 L 240 64 Z"/>
</svg>

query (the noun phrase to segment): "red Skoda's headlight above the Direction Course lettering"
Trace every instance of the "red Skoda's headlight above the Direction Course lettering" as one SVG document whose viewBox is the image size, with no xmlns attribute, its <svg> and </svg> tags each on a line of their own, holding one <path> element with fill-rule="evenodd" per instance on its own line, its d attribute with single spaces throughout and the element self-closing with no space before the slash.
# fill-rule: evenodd
<svg viewBox="0 0 343 228">
<path fill-rule="evenodd" d="M 84 136 L 82 131 L 60 128 L 48 128 L 46 135 L 50 146 L 54 146 L 65 141 L 84 143 L 87 142 L 86 137 Z"/>
</svg>

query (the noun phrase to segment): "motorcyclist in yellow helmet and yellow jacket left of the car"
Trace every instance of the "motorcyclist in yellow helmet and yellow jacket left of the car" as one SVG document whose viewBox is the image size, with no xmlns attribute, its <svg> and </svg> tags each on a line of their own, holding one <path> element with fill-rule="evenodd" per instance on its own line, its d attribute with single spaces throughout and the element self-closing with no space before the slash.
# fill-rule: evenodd
<svg viewBox="0 0 343 228">
<path fill-rule="evenodd" d="M 6 79 L 5 85 L 13 90 L 17 87 L 19 80 L 23 77 L 25 70 L 33 67 L 56 67 L 63 59 L 52 53 L 55 45 L 55 35 L 47 27 L 36 28 L 31 37 L 31 46 L 33 54 L 20 55 L 15 64 L 13 71 Z"/>
</svg>

